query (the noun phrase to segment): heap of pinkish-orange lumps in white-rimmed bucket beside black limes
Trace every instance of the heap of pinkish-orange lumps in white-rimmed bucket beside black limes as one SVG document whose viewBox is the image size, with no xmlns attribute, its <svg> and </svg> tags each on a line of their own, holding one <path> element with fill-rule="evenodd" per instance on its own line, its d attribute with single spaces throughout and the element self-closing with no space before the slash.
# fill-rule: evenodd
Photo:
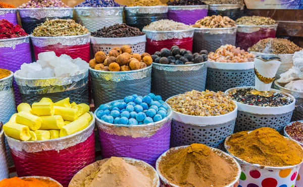
<svg viewBox="0 0 303 187">
<path fill-rule="evenodd" d="M 222 45 L 216 52 L 211 52 L 208 55 L 209 61 L 213 62 L 231 62 L 231 63 L 241 63 L 241 62 L 253 62 L 255 60 L 254 55 L 245 52 L 245 50 L 240 50 L 234 45 Z"/>
</svg>

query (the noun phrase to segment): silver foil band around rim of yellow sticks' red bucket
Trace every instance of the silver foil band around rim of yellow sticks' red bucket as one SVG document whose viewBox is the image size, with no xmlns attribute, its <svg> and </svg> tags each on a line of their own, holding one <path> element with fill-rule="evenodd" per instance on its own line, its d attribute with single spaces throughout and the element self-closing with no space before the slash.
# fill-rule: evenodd
<svg viewBox="0 0 303 187">
<path fill-rule="evenodd" d="M 69 147 L 80 144 L 82 142 L 85 142 L 86 139 L 93 133 L 95 119 L 93 117 L 93 114 L 91 112 L 89 113 L 92 115 L 93 118 L 90 121 L 89 125 L 85 129 L 68 136 L 64 136 L 56 139 L 49 139 L 47 141 L 28 141 L 28 142 L 22 142 L 12 137 L 9 137 L 7 135 L 5 137 L 7 138 L 10 148 L 19 152 L 25 151 L 27 153 L 37 153 L 41 151 L 64 150 Z"/>
</svg>

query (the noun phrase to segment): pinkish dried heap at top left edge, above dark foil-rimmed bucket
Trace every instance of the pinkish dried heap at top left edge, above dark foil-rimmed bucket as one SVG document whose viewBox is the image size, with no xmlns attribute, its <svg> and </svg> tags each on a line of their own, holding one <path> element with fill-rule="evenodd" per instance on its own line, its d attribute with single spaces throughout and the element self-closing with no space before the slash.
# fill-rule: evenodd
<svg viewBox="0 0 303 187">
<path fill-rule="evenodd" d="M 27 9 L 27 8 L 53 8 L 53 7 L 64 7 L 67 8 L 68 6 L 65 5 L 61 0 L 30 0 L 27 3 L 22 4 L 19 6 L 19 9 Z"/>
</svg>

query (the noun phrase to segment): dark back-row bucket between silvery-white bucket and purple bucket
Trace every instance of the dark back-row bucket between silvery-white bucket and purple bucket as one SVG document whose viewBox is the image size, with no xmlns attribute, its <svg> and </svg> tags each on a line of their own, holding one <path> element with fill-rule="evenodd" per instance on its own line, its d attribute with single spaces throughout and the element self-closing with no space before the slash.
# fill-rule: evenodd
<svg viewBox="0 0 303 187">
<path fill-rule="evenodd" d="M 140 30 L 151 22 L 167 19 L 168 6 L 125 7 L 125 21 Z"/>
</svg>

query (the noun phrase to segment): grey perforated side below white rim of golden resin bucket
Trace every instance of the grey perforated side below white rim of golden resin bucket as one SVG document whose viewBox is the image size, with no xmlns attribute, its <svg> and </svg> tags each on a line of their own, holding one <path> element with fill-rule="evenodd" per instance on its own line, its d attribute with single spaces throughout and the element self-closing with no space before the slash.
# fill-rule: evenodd
<svg viewBox="0 0 303 187">
<path fill-rule="evenodd" d="M 233 133 L 235 120 L 208 126 L 191 125 L 172 120 L 171 147 L 204 144 L 224 150 L 225 138 Z"/>
</svg>

